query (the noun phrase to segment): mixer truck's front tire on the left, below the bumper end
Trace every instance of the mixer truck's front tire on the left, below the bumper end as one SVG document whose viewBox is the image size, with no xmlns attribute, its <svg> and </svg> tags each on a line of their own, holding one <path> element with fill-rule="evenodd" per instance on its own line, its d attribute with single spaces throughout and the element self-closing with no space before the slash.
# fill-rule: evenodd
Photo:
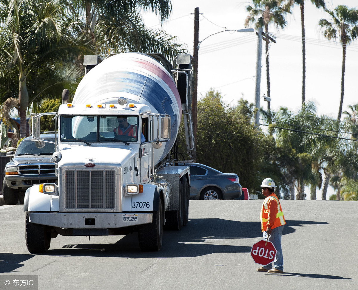
<svg viewBox="0 0 358 290">
<path fill-rule="evenodd" d="M 30 222 L 27 214 L 25 239 L 26 247 L 31 254 L 44 253 L 50 247 L 51 234 L 46 232 L 45 226 Z"/>
</svg>

